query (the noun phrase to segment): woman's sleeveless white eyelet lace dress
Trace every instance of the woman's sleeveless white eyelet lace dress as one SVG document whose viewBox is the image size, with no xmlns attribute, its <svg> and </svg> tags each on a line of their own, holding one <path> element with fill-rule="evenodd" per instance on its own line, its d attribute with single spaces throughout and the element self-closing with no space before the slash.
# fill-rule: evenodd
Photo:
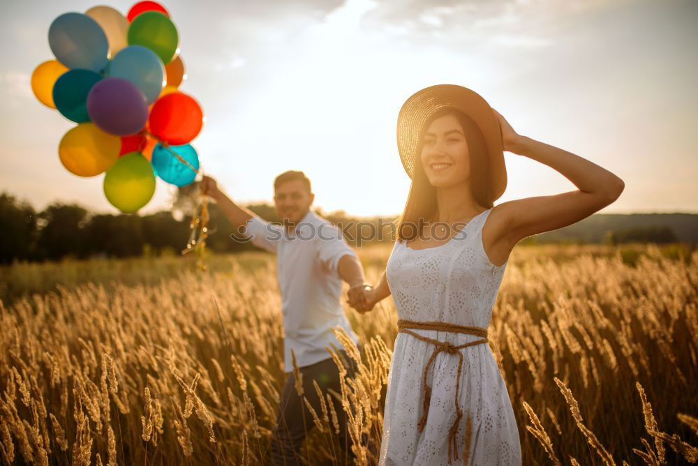
<svg viewBox="0 0 698 466">
<path fill-rule="evenodd" d="M 386 276 L 399 319 L 489 326 L 492 307 L 507 263 L 492 264 L 482 246 L 482 226 L 489 212 L 479 213 L 451 241 L 436 248 L 413 250 L 396 241 Z M 413 330 L 433 340 L 463 345 L 481 337 L 434 330 Z M 459 350 L 463 354 L 457 432 L 458 460 L 463 464 L 466 416 L 472 419 L 469 465 L 521 465 L 521 445 L 507 387 L 489 345 Z M 427 373 L 431 400 L 422 432 L 424 366 L 434 345 L 398 333 L 390 364 L 380 465 L 447 465 L 449 430 L 456 419 L 454 391 L 459 357 L 440 352 Z"/>
</svg>

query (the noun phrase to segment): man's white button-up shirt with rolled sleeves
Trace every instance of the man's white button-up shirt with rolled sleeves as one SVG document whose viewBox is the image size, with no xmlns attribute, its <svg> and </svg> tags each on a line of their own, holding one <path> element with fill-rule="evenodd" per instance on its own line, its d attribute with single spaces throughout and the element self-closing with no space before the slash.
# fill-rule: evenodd
<svg viewBox="0 0 698 466">
<path fill-rule="evenodd" d="M 358 343 L 339 301 L 342 280 L 338 271 L 341 257 L 357 255 L 339 228 L 309 211 L 290 233 L 256 215 L 247 220 L 244 230 L 255 246 L 276 253 L 285 372 L 293 370 L 291 348 L 299 367 L 332 357 L 326 346 L 334 344 L 342 350 L 332 331 L 337 325 Z"/>
</svg>

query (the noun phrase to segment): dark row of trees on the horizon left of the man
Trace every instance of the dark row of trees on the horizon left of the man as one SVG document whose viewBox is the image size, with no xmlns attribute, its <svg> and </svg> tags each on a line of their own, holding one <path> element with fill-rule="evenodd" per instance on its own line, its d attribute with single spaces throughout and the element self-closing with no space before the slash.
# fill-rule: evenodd
<svg viewBox="0 0 698 466">
<path fill-rule="evenodd" d="M 268 220 L 276 217 L 272 206 L 249 208 Z M 232 227 L 216 204 L 209 204 L 211 234 L 207 247 L 218 252 L 254 249 L 234 241 Z M 149 251 L 179 253 L 186 246 L 190 218 L 177 220 L 170 211 L 150 215 L 92 213 L 77 204 L 54 203 L 42 211 L 9 193 L 0 193 L 0 263 L 15 260 L 83 259 L 94 255 L 129 257 Z"/>
</svg>

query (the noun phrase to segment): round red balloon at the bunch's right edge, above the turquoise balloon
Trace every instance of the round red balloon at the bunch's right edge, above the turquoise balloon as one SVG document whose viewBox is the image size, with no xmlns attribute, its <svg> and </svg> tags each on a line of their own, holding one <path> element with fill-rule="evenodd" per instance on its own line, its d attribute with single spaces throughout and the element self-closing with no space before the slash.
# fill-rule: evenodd
<svg viewBox="0 0 698 466">
<path fill-rule="evenodd" d="M 199 134 L 204 114 L 199 104 L 185 93 L 174 92 L 155 101 L 150 111 L 150 132 L 171 146 L 188 144 Z"/>
</svg>

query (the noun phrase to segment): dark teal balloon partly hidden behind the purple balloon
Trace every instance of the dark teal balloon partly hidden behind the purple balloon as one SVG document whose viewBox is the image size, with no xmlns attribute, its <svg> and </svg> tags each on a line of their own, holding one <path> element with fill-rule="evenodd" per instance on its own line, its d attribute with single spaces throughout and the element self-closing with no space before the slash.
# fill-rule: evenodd
<svg viewBox="0 0 698 466">
<path fill-rule="evenodd" d="M 94 71 L 68 70 L 53 85 L 53 101 L 61 114 L 75 123 L 90 121 L 87 114 L 87 95 L 102 79 Z"/>
</svg>

